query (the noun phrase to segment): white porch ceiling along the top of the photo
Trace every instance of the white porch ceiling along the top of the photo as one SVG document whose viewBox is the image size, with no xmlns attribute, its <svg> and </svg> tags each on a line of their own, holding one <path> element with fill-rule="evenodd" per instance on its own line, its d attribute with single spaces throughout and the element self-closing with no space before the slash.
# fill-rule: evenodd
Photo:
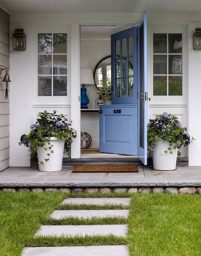
<svg viewBox="0 0 201 256">
<path fill-rule="evenodd" d="M 200 13 L 201 0 L 0 0 L 10 13 Z"/>
</svg>

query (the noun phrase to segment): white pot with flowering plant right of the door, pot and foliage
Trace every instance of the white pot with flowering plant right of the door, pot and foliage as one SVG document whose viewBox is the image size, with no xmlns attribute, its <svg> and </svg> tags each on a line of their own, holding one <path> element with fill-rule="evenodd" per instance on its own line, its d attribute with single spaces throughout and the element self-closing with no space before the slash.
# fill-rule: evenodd
<svg viewBox="0 0 201 256">
<path fill-rule="evenodd" d="M 154 170 L 175 170 L 177 155 L 182 146 L 187 147 L 193 137 L 187 134 L 178 118 L 167 112 L 150 119 L 147 126 L 148 152 L 152 151 Z"/>
</svg>

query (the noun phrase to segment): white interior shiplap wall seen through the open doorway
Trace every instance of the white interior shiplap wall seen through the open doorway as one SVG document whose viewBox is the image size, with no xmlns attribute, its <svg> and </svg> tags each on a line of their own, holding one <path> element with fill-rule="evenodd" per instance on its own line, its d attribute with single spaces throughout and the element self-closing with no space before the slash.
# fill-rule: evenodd
<svg viewBox="0 0 201 256">
<path fill-rule="evenodd" d="M 105 56 L 111 54 L 110 37 L 81 37 L 81 67 L 94 70 L 96 64 Z M 88 108 L 95 108 L 98 90 L 95 85 L 86 86 L 89 98 Z M 81 131 L 87 131 L 92 137 L 91 148 L 99 148 L 99 113 L 81 113 Z"/>
</svg>

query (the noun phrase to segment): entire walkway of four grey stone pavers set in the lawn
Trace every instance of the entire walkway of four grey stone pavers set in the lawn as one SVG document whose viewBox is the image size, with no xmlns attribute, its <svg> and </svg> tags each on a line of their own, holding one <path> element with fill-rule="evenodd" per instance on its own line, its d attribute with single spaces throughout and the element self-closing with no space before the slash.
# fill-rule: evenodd
<svg viewBox="0 0 201 256">
<path fill-rule="evenodd" d="M 130 198 L 69 198 L 62 204 L 94 204 L 108 203 L 128 205 Z M 55 210 L 51 218 L 65 217 L 114 217 L 128 216 L 128 210 Z M 85 235 L 110 235 L 126 237 L 127 225 L 46 225 L 36 232 L 34 236 L 85 236 Z M 22 256 L 127 256 L 129 251 L 125 245 L 111 246 L 72 246 L 72 247 L 32 247 L 24 248 Z"/>
</svg>

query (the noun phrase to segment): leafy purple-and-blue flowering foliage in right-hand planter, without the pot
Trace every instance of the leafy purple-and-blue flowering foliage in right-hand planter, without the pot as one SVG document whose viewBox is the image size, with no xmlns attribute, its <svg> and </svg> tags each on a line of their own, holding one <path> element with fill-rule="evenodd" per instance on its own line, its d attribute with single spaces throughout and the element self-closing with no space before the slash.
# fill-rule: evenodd
<svg viewBox="0 0 201 256">
<path fill-rule="evenodd" d="M 150 119 L 147 125 L 147 147 L 148 152 L 154 150 L 157 146 L 157 141 L 162 139 L 169 143 L 169 147 L 164 151 L 164 154 L 172 154 L 172 149 L 181 146 L 187 147 L 194 138 L 187 134 L 186 127 L 182 127 L 178 118 L 167 112 L 162 115 L 157 115 L 155 119 Z M 180 152 L 178 152 L 180 156 Z"/>
</svg>

